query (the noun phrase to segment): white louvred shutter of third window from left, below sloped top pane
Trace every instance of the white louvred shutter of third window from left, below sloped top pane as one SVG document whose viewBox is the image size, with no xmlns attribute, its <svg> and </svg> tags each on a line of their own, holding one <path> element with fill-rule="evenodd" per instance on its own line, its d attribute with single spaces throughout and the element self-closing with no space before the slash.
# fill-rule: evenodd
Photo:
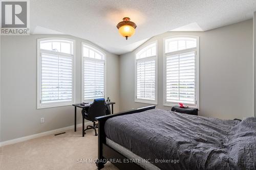
<svg viewBox="0 0 256 170">
<path fill-rule="evenodd" d="M 137 99 L 155 100 L 156 61 L 137 61 Z"/>
</svg>

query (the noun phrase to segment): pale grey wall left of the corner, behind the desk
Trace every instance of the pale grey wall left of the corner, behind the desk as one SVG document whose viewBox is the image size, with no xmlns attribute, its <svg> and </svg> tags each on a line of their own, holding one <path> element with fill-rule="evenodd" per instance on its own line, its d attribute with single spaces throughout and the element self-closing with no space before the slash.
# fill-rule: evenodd
<svg viewBox="0 0 256 170">
<path fill-rule="evenodd" d="M 2 141 L 74 125 L 74 107 L 36 109 L 36 39 L 66 37 L 76 41 L 76 103 L 81 102 L 81 41 L 73 36 L 2 36 Z M 92 44 L 94 45 L 94 44 Z M 119 111 L 119 57 L 106 52 L 106 96 Z M 81 112 L 77 112 L 81 124 Z M 40 123 L 45 117 L 45 123 Z"/>
</svg>

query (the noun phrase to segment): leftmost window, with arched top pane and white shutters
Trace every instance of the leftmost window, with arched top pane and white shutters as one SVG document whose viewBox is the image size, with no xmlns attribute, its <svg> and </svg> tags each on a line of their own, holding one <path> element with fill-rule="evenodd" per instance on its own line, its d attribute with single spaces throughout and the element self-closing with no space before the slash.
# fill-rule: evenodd
<svg viewBox="0 0 256 170">
<path fill-rule="evenodd" d="M 73 41 L 38 40 L 37 108 L 67 106 L 74 99 Z"/>
</svg>

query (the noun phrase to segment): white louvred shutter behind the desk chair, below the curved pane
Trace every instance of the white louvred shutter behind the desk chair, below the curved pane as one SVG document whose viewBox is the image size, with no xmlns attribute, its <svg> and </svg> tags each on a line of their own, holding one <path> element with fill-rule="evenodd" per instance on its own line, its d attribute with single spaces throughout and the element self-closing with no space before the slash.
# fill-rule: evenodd
<svg viewBox="0 0 256 170">
<path fill-rule="evenodd" d="M 104 98 L 104 61 L 84 57 L 84 100 Z"/>
</svg>

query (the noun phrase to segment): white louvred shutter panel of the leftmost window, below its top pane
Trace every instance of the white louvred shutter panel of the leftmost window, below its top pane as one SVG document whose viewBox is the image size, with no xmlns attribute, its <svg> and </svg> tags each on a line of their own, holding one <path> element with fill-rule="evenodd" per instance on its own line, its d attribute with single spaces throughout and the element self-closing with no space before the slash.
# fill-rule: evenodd
<svg viewBox="0 0 256 170">
<path fill-rule="evenodd" d="M 72 102 L 72 58 L 41 54 L 41 102 Z"/>
</svg>

